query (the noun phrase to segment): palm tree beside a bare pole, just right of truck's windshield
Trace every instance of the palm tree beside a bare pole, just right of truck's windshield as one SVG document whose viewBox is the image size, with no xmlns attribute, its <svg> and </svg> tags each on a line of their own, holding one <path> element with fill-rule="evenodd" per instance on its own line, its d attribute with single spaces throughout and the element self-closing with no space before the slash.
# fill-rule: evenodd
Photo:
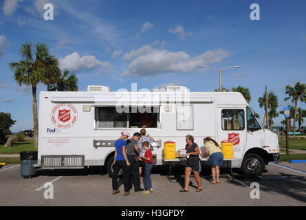
<svg viewBox="0 0 306 220">
<path fill-rule="evenodd" d="M 271 91 L 269 94 L 267 94 L 267 100 L 268 100 L 268 106 L 267 108 L 270 109 L 270 113 L 269 113 L 269 122 L 273 123 L 273 118 L 278 116 L 278 113 L 276 112 L 276 109 L 278 107 L 278 98 L 277 96 Z M 259 97 L 258 99 L 259 102 L 259 107 L 264 107 L 265 109 L 265 93 L 263 94 L 263 97 Z M 265 118 L 267 117 L 266 113 L 265 116 L 263 117 L 263 127 L 265 127 Z M 270 124 L 271 124 L 270 123 Z M 270 129 L 270 128 L 267 128 Z"/>
</svg>

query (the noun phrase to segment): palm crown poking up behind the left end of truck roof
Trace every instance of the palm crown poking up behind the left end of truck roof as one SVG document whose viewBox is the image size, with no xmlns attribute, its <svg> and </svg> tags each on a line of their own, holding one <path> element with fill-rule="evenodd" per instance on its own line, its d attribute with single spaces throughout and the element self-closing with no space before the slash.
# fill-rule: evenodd
<svg viewBox="0 0 306 220">
<path fill-rule="evenodd" d="M 52 91 L 78 91 L 78 78 L 76 74 L 70 74 L 69 71 L 65 69 L 64 73 L 58 78 L 55 85 L 50 85 L 50 90 Z"/>
</svg>

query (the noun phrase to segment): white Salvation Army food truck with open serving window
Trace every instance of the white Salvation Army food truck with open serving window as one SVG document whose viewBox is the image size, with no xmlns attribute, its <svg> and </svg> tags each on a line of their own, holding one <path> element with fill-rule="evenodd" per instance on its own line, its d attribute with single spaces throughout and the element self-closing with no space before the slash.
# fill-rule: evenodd
<svg viewBox="0 0 306 220">
<path fill-rule="evenodd" d="M 144 125 L 143 118 L 150 123 Z M 190 92 L 177 86 L 157 91 L 89 86 L 87 91 L 41 91 L 36 167 L 105 166 L 111 175 L 114 142 L 123 130 L 133 134 L 142 127 L 156 141 L 151 146 L 155 165 L 166 164 L 165 142 L 184 148 L 188 134 L 195 137 L 201 153 L 205 137 L 232 142 L 230 166 L 245 175 L 261 175 L 265 164 L 279 159 L 277 135 L 262 128 L 240 93 Z"/>
</svg>

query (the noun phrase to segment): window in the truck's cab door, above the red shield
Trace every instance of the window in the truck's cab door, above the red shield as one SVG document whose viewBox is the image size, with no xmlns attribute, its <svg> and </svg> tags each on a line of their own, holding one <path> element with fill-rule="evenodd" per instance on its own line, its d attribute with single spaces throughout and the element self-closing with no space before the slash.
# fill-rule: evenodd
<svg viewBox="0 0 306 220">
<path fill-rule="evenodd" d="M 223 131 L 244 130 L 244 110 L 243 109 L 223 109 L 222 110 Z"/>
</svg>

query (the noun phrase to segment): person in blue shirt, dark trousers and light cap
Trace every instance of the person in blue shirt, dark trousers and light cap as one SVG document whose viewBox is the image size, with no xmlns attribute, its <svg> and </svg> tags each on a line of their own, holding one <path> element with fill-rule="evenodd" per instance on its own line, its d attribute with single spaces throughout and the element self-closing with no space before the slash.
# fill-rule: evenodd
<svg viewBox="0 0 306 220">
<path fill-rule="evenodd" d="M 118 188 L 118 174 L 122 169 L 123 175 L 123 185 L 124 185 L 124 196 L 129 195 L 129 174 L 131 170 L 131 164 L 129 159 L 127 158 L 126 148 L 127 142 L 125 141 L 129 138 L 129 131 L 122 131 L 121 137 L 116 140 L 115 142 L 115 164 L 113 165 L 113 179 L 112 179 L 112 186 L 113 192 L 112 194 L 115 195 L 119 193 Z"/>
</svg>

